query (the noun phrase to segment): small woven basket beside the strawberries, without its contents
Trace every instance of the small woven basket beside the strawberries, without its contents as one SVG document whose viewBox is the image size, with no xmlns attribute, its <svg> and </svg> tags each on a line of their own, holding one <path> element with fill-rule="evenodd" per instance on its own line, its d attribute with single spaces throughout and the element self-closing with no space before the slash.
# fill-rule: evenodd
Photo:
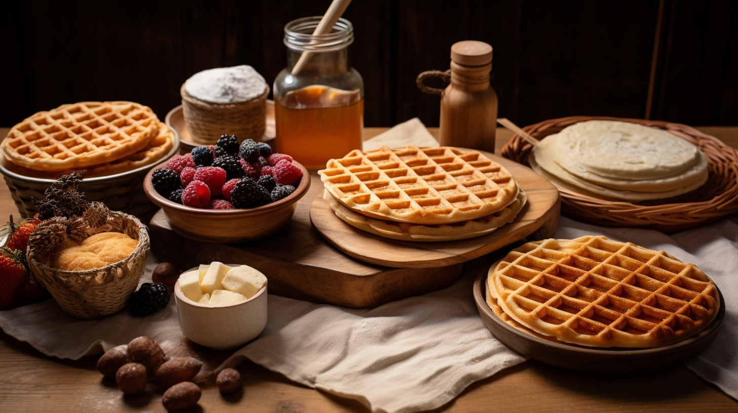
<svg viewBox="0 0 738 413">
<path fill-rule="evenodd" d="M 61 271 L 49 268 L 29 247 L 30 271 L 49 290 L 59 306 L 78 319 L 99 319 L 122 310 L 133 294 L 146 267 L 149 239 L 146 226 L 133 215 L 111 211 L 99 232 L 121 232 L 138 240 L 136 249 L 125 260 L 87 271 Z M 38 259 L 38 260 L 37 260 Z"/>
</svg>

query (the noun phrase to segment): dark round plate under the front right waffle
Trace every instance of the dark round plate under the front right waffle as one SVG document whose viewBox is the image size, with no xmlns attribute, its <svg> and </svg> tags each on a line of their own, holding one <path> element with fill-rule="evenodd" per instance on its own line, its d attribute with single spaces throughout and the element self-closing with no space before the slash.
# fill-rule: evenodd
<svg viewBox="0 0 738 413">
<path fill-rule="evenodd" d="M 497 263 L 494 263 L 492 268 L 496 266 Z M 725 317 L 725 300 L 718 289 L 721 305 L 715 318 L 697 336 L 677 344 L 650 349 L 622 347 L 600 349 L 561 344 L 517 330 L 497 317 L 487 305 L 485 298 L 487 276 L 488 274 L 485 273 L 480 274 L 474 282 L 474 301 L 477 304 L 479 315 L 482 316 L 484 324 L 492 331 L 492 334 L 513 350 L 534 360 L 582 372 L 641 372 L 677 364 L 707 347 L 717 336 L 717 330 L 720 329 L 720 324 L 723 324 Z"/>
</svg>

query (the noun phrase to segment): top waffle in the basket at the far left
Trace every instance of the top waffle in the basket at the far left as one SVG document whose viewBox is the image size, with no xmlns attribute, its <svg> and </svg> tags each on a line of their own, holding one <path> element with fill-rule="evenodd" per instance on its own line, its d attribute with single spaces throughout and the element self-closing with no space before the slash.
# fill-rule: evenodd
<svg viewBox="0 0 738 413">
<path fill-rule="evenodd" d="M 61 171 L 103 164 L 141 150 L 156 136 L 158 119 L 132 102 L 81 102 L 38 112 L 2 142 L 10 162 Z"/>
</svg>

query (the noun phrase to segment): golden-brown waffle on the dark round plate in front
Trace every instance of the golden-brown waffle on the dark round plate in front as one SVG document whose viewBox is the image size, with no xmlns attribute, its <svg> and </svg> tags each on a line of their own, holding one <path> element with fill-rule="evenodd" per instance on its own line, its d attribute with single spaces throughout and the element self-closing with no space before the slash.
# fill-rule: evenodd
<svg viewBox="0 0 738 413">
<path fill-rule="evenodd" d="M 703 330 L 720 307 L 714 283 L 664 251 L 603 236 L 514 249 L 490 295 L 536 333 L 591 347 L 659 347 Z"/>
</svg>

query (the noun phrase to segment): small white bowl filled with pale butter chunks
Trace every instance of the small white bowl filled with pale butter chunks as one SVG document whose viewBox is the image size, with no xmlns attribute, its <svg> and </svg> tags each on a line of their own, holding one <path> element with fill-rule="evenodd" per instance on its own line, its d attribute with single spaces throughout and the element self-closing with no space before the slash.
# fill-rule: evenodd
<svg viewBox="0 0 738 413">
<path fill-rule="evenodd" d="M 205 347 L 240 347 L 266 326 L 266 277 L 248 265 L 211 263 L 185 271 L 174 297 L 182 333 Z"/>
</svg>

